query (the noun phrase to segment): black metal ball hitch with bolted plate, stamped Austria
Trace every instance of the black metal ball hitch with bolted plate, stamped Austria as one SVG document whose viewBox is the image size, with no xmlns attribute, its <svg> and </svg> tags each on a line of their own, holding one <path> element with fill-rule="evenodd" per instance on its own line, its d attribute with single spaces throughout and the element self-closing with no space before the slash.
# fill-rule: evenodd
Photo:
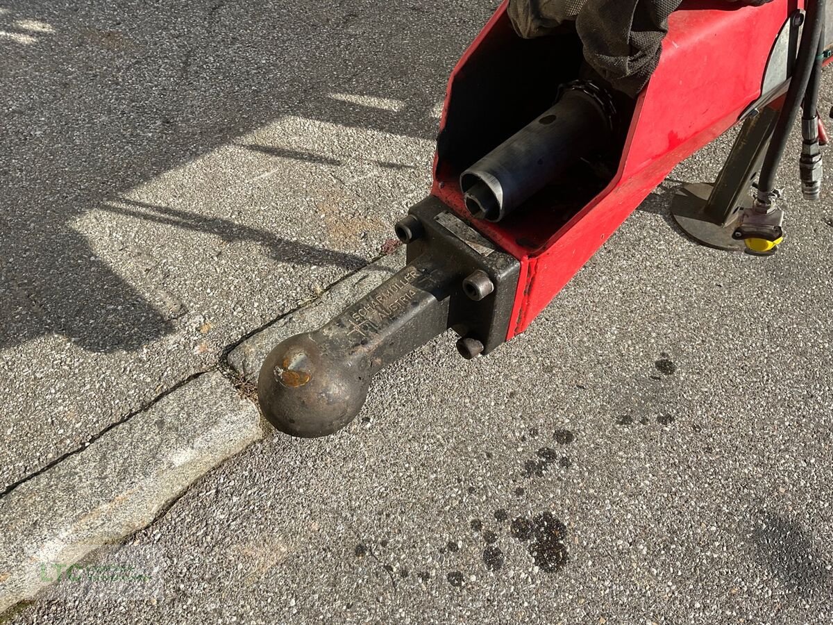
<svg viewBox="0 0 833 625">
<path fill-rule="evenodd" d="M 407 265 L 323 328 L 279 343 L 257 396 L 284 433 L 327 436 L 362 409 L 375 373 L 448 328 L 466 358 L 506 341 L 520 263 L 436 198 L 397 224 Z"/>
</svg>

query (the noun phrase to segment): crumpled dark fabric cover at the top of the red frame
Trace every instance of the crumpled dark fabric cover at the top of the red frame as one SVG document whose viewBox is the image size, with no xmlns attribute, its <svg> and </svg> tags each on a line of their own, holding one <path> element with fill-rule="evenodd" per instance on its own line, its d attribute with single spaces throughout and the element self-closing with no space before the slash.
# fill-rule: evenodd
<svg viewBox="0 0 833 625">
<path fill-rule="evenodd" d="M 725 0 L 761 5 L 771 0 Z M 524 38 L 542 37 L 573 21 L 584 57 L 621 92 L 636 96 L 660 61 L 668 16 L 682 0 L 509 0 L 509 17 Z"/>
</svg>

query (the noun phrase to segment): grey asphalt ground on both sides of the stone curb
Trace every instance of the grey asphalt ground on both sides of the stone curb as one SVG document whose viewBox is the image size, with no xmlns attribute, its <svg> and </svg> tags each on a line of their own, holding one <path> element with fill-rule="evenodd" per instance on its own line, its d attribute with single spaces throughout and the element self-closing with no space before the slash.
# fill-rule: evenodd
<svg viewBox="0 0 833 625">
<path fill-rule="evenodd" d="M 0 6 L 52 28 L 0 40 L 9 483 L 374 258 L 493 8 Z M 157 597 L 11 622 L 833 621 L 831 195 L 785 168 L 773 258 L 691 243 L 671 191 L 730 144 L 496 353 L 437 338 L 342 433 L 202 478 L 125 547 Z"/>
</svg>

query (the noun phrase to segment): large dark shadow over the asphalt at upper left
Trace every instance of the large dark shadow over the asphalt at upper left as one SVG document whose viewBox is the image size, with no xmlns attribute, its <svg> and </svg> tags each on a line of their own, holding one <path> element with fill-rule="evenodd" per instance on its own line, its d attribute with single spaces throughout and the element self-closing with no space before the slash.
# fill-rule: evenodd
<svg viewBox="0 0 833 625">
<path fill-rule="evenodd" d="M 472 25 L 449 31 L 437 28 L 447 22 L 440 15 L 446 8 L 410 0 L 395 0 L 383 17 L 373 2 L 308 4 L 3 4 L 0 348 L 57 333 L 87 350 L 112 352 L 172 332 L 72 223 L 286 115 L 433 138 L 431 110 L 446 76 L 491 10 L 485 3 L 470 8 Z M 380 110 L 327 97 L 332 92 L 403 106 Z M 118 204 L 127 205 L 106 208 L 257 241 L 282 260 L 346 269 L 364 263 L 227 219 Z"/>
</svg>

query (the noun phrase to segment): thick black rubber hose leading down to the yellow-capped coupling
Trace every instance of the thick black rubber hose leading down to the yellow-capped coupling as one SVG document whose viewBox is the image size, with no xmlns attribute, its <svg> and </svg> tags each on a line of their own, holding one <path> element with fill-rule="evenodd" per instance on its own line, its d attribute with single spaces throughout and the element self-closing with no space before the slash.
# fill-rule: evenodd
<svg viewBox="0 0 833 625">
<path fill-rule="evenodd" d="M 813 67 L 816 65 L 816 51 L 821 39 L 821 31 L 825 24 L 825 0 L 807 2 L 804 33 L 798 48 L 796 67 L 792 73 L 790 88 L 786 92 L 784 107 L 776 122 L 772 133 L 770 147 L 766 150 L 764 164 L 761 166 L 761 177 L 758 179 L 758 198 L 763 203 L 771 203 L 772 193 L 776 188 L 776 173 L 781 164 L 781 158 L 786 150 L 786 142 L 790 131 L 798 117 L 798 107 L 807 92 Z"/>
</svg>

